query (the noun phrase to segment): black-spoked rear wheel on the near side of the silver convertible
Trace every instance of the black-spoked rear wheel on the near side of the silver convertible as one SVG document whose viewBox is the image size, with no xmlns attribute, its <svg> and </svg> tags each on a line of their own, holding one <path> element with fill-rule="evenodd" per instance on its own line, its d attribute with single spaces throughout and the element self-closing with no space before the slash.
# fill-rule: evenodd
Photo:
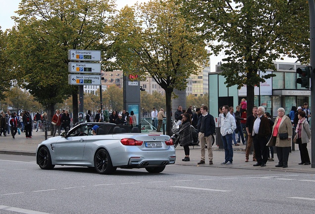
<svg viewBox="0 0 315 214">
<path fill-rule="evenodd" d="M 94 165 L 97 172 L 100 174 L 112 174 L 117 167 L 112 166 L 109 154 L 105 149 L 100 149 L 96 152 Z"/>
</svg>

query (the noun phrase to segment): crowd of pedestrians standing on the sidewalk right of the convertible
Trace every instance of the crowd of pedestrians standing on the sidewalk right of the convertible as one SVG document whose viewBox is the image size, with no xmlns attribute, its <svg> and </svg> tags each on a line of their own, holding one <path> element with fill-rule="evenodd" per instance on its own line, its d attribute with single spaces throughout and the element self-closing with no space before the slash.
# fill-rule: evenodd
<svg viewBox="0 0 315 214">
<path fill-rule="evenodd" d="M 253 149 L 253 161 L 256 161 L 253 166 L 266 166 L 268 161 L 274 161 L 273 148 L 275 147 L 278 158 L 278 163 L 275 166 L 286 168 L 288 167 L 292 142 L 299 145 L 301 156 L 299 164 L 311 164 L 307 149 L 307 143 L 311 139 L 309 125 L 311 111 L 307 103 L 304 103 L 302 107 L 293 106 L 287 115 L 285 109 L 279 107 L 274 121 L 270 113 L 266 112 L 262 106 L 254 106 L 252 113 L 247 115 L 245 99 L 242 99 L 235 112 L 233 107 L 219 107 L 219 115 L 215 119 L 208 110 L 205 105 L 196 108 L 195 113 L 188 110 L 183 113 L 181 106 L 176 110 L 175 121 L 182 121 L 179 126 L 180 145 L 183 146 L 185 153 L 182 161 L 190 161 L 189 144 L 192 142 L 191 129 L 193 127 L 198 132 L 201 148 L 201 160 L 198 164 L 206 163 L 206 148 L 209 164 L 213 164 L 213 135 L 216 134 L 216 127 L 219 127 L 224 148 L 224 161 L 221 164 L 232 165 L 232 146 L 239 146 L 239 143 L 243 143 L 246 144 L 245 162 L 249 161 L 249 155 Z M 238 138 L 236 138 L 237 135 Z"/>
</svg>

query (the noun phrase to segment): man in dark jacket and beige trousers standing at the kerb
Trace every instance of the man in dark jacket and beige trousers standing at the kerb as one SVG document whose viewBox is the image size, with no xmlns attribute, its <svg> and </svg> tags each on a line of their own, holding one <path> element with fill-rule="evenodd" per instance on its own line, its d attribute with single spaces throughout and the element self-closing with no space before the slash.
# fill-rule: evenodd
<svg viewBox="0 0 315 214">
<path fill-rule="evenodd" d="M 201 160 L 198 164 L 205 164 L 206 160 L 206 143 L 208 147 L 208 158 L 209 164 L 213 164 L 213 154 L 212 154 L 212 135 L 215 132 L 215 122 L 213 116 L 208 113 L 208 107 L 202 106 L 200 107 L 200 112 L 202 115 L 199 117 L 198 120 L 198 129 L 197 132 L 200 146 L 201 146 Z"/>
</svg>

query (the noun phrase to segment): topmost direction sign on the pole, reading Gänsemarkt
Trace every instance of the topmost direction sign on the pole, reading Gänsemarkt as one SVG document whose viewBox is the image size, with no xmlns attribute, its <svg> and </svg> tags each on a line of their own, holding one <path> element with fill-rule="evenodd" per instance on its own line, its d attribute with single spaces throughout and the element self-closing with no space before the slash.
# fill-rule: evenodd
<svg viewBox="0 0 315 214">
<path fill-rule="evenodd" d="M 68 50 L 68 59 L 75 61 L 101 61 L 101 51 Z"/>
</svg>

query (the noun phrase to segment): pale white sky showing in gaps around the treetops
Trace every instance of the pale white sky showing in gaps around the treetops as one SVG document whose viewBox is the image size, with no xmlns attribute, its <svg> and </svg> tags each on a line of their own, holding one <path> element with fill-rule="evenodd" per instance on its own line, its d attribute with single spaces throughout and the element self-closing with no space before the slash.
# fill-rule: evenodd
<svg viewBox="0 0 315 214">
<path fill-rule="evenodd" d="M 149 0 L 116 0 L 117 9 L 122 8 L 124 5 L 128 4 L 129 6 L 135 4 L 136 2 L 147 2 Z M 14 25 L 14 21 L 10 18 L 11 16 L 15 16 L 16 13 L 14 11 L 18 10 L 18 6 L 21 0 L 0 0 L 0 26 L 1 30 L 5 31 L 6 29 L 10 29 Z M 127 3 L 126 3 L 127 2 Z M 210 70 L 211 72 L 215 71 L 215 65 L 222 61 L 224 58 L 224 54 L 221 53 L 218 56 L 211 55 L 210 56 Z M 277 60 L 281 61 L 281 60 Z M 285 58 L 285 62 L 294 62 L 295 59 Z"/>
</svg>

